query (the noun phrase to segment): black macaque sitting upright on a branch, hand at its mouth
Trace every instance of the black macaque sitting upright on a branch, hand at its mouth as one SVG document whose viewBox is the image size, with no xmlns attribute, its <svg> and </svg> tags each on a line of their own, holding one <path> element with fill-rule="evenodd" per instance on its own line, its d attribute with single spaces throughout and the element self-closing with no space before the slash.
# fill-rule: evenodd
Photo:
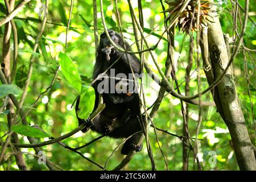
<svg viewBox="0 0 256 182">
<path fill-rule="evenodd" d="M 110 38 L 113 42 L 123 49 L 126 47 L 127 50 L 130 51 L 130 46 L 128 43 L 125 42 L 125 45 L 122 42 L 121 35 L 113 30 L 108 30 Z M 124 73 L 126 78 L 129 78 L 129 73 L 131 72 L 131 68 L 133 69 L 134 73 L 141 72 L 141 64 L 135 55 L 119 52 L 117 49 L 112 46 L 108 38 L 106 37 L 105 32 L 101 34 L 100 39 L 100 46 L 97 49 L 97 57 L 96 57 L 96 64 L 94 66 L 93 72 L 93 80 L 98 78 L 98 76 L 105 72 L 106 69 L 110 67 L 117 59 L 117 63 L 113 65 L 111 69 L 114 69 L 115 75 L 118 73 Z M 131 66 L 131 67 L 130 67 Z M 112 70 L 113 71 L 113 70 Z M 110 76 L 110 69 L 106 71 L 106 75 Z M 103 78 L 104 79 L 104 78 Z M 105 78 L 106 79 L 106 78 Z M 113 78 L 108 77 L 107 80 L 110 82 Z M 94 105 L 94 110 L 98 106 L 99 102 L 99 92 L 98 85 L 102 79 L 99 78 L 94 84 L 92 85 L 95 93 L 96 93 L 96 102 Z M 133 79 L 131 79 L 133 80 Z M 134 84 L 133 81 L 129 81 Z M 127 80 L 121 80 L 114 78 L 114 87 L 116 90 L 118 88 L 122 88 L 122 86 L 127 86 Z M 104 86 L 111 85 L 108 83 Z M 113 88 L 113 86 L 112 86 Z M 105 89 L 105 88 L 104 88 Z M 113 138 L 127 138 L 130 135 L 137 133 L 138 131 L 142 131 L 141 127 L 141 117 L 140 117 L 140 104 L 139 104 L 139 94 L 138 92 L 130 93 L 127 91 L 126 93 L 117 93 L 115 90 L 114 93 L 102 93 L 103 102 L 105 103 L 105 109 L 97 115 L 96 118 L 90 122 L 89 118 L 84 120 L 79 117 L 79 125 L 82 122 L 86 122 L 92 125 L 90 129 L 97 131 L 98 133 L 105 134 L 106 136 L 113 137 Z M 79 98 L 76 102 L 76 111 L 79 110 Z M 88 131 L 88 127 L 85 127 L 83 132 Z M 133 137 L 126 140 L 125 144 L 122 147 L 121 154 L 127 155 L 131 150 L 141 151 L 142 146 L 136 146 L 134 141 L 141 135 L 135 134 Z"/>
</svg>

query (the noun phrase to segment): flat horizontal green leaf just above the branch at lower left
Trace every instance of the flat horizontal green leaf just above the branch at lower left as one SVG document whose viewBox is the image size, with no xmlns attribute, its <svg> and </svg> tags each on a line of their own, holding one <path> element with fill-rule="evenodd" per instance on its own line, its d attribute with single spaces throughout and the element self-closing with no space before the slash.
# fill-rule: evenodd
<svg viewBox="0 0 256 182">
<path fill-rule="evenodd" d="M 46 138 L 49 137 L 45 131 L 40 130 L 38 128 L 26 125 L 16 125 L 11 127 L 11 129 L 20 135 L 25 135 L 27 137 L 35 137 L 35 138 Z"/>
</svg>

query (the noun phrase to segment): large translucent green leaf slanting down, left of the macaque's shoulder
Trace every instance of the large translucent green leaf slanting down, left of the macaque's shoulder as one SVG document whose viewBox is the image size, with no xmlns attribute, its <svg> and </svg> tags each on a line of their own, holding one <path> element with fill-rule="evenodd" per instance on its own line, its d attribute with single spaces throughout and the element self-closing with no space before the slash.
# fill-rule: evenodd
<svg viewBox="0 0 256 182">
<path fill-rule="evenodd" d="M 73 61 L 64 53 L 59 53 L 59 64 L 63 75 L 76 90 L 81 92 L 81 78 Z"/>
</svg>

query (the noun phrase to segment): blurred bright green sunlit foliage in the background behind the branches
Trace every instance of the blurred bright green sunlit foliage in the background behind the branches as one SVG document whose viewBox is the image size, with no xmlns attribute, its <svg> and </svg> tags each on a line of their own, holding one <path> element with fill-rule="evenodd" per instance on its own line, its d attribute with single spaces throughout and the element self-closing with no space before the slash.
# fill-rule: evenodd
<svg viewBox="0 0 256 182">
<path fill-rule="evenodd" d="M 132 1 L 135 10 L 138 12 L 137 1 Z M 244 2 L 240 2 L 244 7 Z M 0 16 L 5 16 L 5 5 L 0 3 Z M 29 57 L 32 53 L 32 46 L 35 42 L 36 35 L 38 35 L 40 23 L 39 23 L 39 10 L 40 1 L 31 1 L 26 7 L 15 16 L 15 23 L 18 28 L 18 72 L 15 77 L 14 84 L 18 85 L 20 89 L 23 89 L 24 82 L 26 81 Z M 65 49 L 65 31 L 67 25 L 67 19 L 69 15 L 71 1 L 50 1 L 49 11 L 47 16 L 47 26 L 44 30 L 42 39 L 39 42 L 39 49 L 34 55 L 36 56 L 34 64 L 34 72 L 30 87 L 28 88 L 28 96 L 24 103 L 24 108 L 30 108 L 31 104 L 36 100 L 41 92 L 43 92 L 51 83 L 51 80 L 55 74 L 57 67 L 57 55 L 59 52 L 65 51 L 65 54 L 71 57 L 73 63 L 79 74 L 81 75 L 82 82 L 85 85 L 90 83 L 92 77 L 93 66 L 95 62 L 95 46 L 94 46 L 94 34 L 93 34 L 93 6 L 92 1 L 74 1 L 71 27 L 68 32 L 68 48 Z M 165 5 L 166 6 L 166 5 Z M 255 9 L 253 3 L 250 4 L 250 12 L 254 14 L 251 18 L 255 22 Z M 98 3 L 98 7 L 100 4 Z M 152 30 L 154 27 L 155 35 L 148 37 L 148 42 L 151 46 L 154 46 L 158 40 L 157 35 L 161 35 L 164 30 L 162 7 L 159 1 L 142 1 L 143 15 L 144 15 L 144 27 L 145 32 Z M 220 21 L 222 30 L 225 34 L 233 36 L 233 17 L 232 6 L 230 1 L 220 1 L 219 4 Z M 131 24 L 131 18 L 129 13 L 129 6 L 126 1 L 118 1 L 118 9 L 121 14 L 122 29 L 125 31 L 125 38 L 127 42 L 132 44 L 134 42 L 133 26 Z M 112 28 L 115 31 L 119 31 L 117 27 L 117 21 L 115 19 L 115 7 L 113 1 L 104 1 L 104 13 L 106 16 L 106 22 L 108 28 Z M 242 17 L 241 13 L 241 17 Z M 100 16 L 100 9 L 98 9 L 98 16 Z M 159 26 L 157 26 L 159 25 Z M 238 27 L 240 24 L 238 23 Z M 100 17 L 98 18 L 98 31 L 101 33 L 103 27 Z M 4 26 L 0 27 L 0 39 L 3 39 Z M 256 31 L 252 22 L 248 22 L 246 29 L 244 43 L 249 49 L 256 48 Z M 13 39 L 11 40 L 13 43 Z M 232 47 L 231 47 L 232 48 Z M 135 50 L 135 44 L 133 46 Z M 180 83 L 181 93 L 184 94 L 185 85 L 185 68 L 188 60 L 189 38 L 184 36 L 182 32 L 176 31 L 175 35 L 175 57 L 176 57 L 176 77 Z M 0 55 L 2 55 L 2 43 L 0 44 Z M 164 70 L 164 64 L 167 56 L 167 42 L 162 40 L 158 48 L 154 51 L 154 56 L 160 67 Z M 156 72 L 156 68 L 152 63 L 148 52 L 145 53 L 153 71 Z M 255 53 L 246 52 L 246 60 L 241 52 L 237 55 L 233 64 L 234 75 L 236 77 L 237 92 L 240 98 L 243 114 L 245 115 L 246 125 L 249 130 L 251 141 L 255 144 L 255 117 L 256 111 L 252 110 L 252 106 L 255 107 Z M 195 53 L 196 57 L 196 53 Z M 245 65 L 247 65 L 247 78 L 245 75 Z M 197 93 L 197 72 L 195 70 L 195 64 L 193 65 L 191 72 L 190 94 Z M 59 137 L 69 131 L 75 129 L 78 125 L 75 109 L 72 107 L 72 103 L 77 97 L 76 90 L 65 80 L 64 72 L 59 72 L 55 84 L 52 88 L 44 94 L 42 99 L 36 104 L 35 108 L 27 115 L 27 120 L 30 125 L 39 125 L 52 137 Z M 207 80 L 201 71 L 201 89 L 208 87 Z M 145 89 L 147 96 L 147 105 L 150 106 L 154 103 L 158 96 L 159 86 L 154 82 L 148 85 Z M 249 93 L 250 92 L 250 97 Z M 19 97 L 18 97 L 19 98 Z M 209 93 L 202 97 L 203 100 L 212 100 Z M 0 101 L 2 106 L 2 100 Z M 6 114 L 8 111 L 3 111 L 0 117 L 0 137 L 2 137 L 7 131 L 7 119 Z M 191 137 L 196 135 L 197 118 L 199 114 L 199 108 L 195 105 L 189 105 L 189 133 Z M 232 149 L 232 142 L 228 129 L 225 123 L 222 121 L 220 115 L 217 113 L 215 107 L 204 106 L 202 109 L 203 123 L 199 138 L 203 139 L 199 142 L 199 159 L 201 161 L 203 170 L 237 170 L 236 157 L 234 156 Z M 156 127 L 163 130 L 168 130 L 170 133 L 177 135 L 183 135 L 183 117 L 181 114 L 180 100 L 170 95 L 164 97 L 160 109 L 154 118 Z M 168 160 L 168 167 L 171 170 L 181 170 L 183 166 L 182 162 L 182 142 L 179 138 L 172 137 L 171 135 L 157 131 L 160 146 L 163 149 L 164 154 Z M 94 138 L 100 136 L 97 133 L 88 131 L 88 133 L 82 134 L 81 131 L 72 137 L 63 140 L 65 144 L 70 147 L 78 147 L 82 144 L 88 143 Z M 163 156 L 159 150 L 159 146 L 156 143 L 154 130 L 149 129 L 150 143 L 154 154 L 156 168 L 158 170 L 164 170 Z M 1 138 L 5 140 L 6 137 Z M 28 143 L 28 140 L 23 135 L 19 135 L 21 143 Z M 38 139 L 38 142 L 42 142 L 44 139 Z M 115 147 L 121 143 L 121 139 L 102 138 L 90 146 L 82 148 L 80 151 L 89 159 L 104 166 L 106 160 L 112 153 Z M 59 165 L 65 170 L 98 170 L 97 166 L 88 162 L 75 152 L 66 150 L 59 144 L 51 144 L 49 146 L 42 147 L 46 151 L 47 158 L 51 162 Z M 149 170 L 151 169 L 150 159 L 147 155 L 146 143 L 143 143 L 143 150 L 136 154 L 128 166 L 127 170 Z M 32 170 L 46 170 L 46 166 L 39 165 L 38 159 L 32 155 L 34 150 L 32 148 L 22 148 L 24 152 L 24 159 L 27 166 Z M 16 170 L 14 155 L 11 155 L 11 150 L 7 151 L 8 155 L 0 170 L 10 169 Z M 216 157 L 216 163 L 212 163 L 212 156 Z M 110 159 L 107 169 L 113 169 L 116 167 L 123 156 L 120 151 L 114 153 L 114 156 Z M 193 152 L 189 155 L 189 169 L 193 169 Z M 196 166 L 196 164 L 195 164 Z"/>
</svg>

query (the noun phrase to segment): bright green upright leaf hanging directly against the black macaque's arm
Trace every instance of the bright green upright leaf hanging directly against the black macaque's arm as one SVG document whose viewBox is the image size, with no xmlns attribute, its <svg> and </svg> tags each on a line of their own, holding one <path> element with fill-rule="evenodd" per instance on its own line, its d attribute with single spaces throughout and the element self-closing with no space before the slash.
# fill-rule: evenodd
<svg viewBox="0 0 256 182">
<path fill-rule="evenodd" d="M 95 102 L 95 92 L 92 86 L 82 85 L 80 93 L 79 111 L 77 114 L 79 118 L 87 119 L 92 113 Z"/>
</svg>

